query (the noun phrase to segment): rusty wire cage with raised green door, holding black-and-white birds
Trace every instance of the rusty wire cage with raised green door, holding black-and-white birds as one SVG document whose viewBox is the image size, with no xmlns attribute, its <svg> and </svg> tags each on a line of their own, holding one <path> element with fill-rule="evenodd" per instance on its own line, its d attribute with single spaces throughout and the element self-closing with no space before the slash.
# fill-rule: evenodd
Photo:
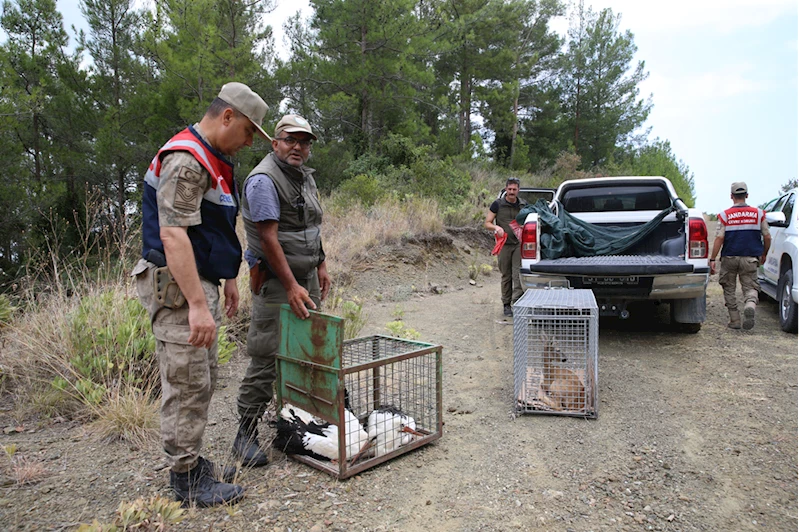
<svg viewBox="0 0 799 532">
<path fill-rule="evenodd" d="M 381 335 L 342 338 L 341 318 L 312 312 L 299 320 L 287 305 L 281 309 L 277 406 L 293 421 L 283 427 L 302 436 L 302 448 L 281 450 L 340 479 L 443 432 L 441 346 Z"/>
</svg>

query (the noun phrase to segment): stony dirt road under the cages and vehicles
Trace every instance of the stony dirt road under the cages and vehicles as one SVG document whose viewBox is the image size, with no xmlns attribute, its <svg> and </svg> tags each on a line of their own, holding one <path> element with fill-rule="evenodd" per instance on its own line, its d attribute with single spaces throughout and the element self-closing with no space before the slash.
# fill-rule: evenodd
<svg viewBox="0 0 799 532">
<path fill-rule="evenodd" d="M 796 530 L 797 337 L 780 331 L 774 304 L 758 307 L 753 331 L 730 331 L 714 282 L 698 334 L 671 332 L 665 308 L 602 320 L 599 418 L 512 419 L 499 275 L 472 286 L 462 269 L 393 270 L 363 274 L 377 297 L 362 334 L 385 334 L 400 309 L 423 341 L 444 346 L 444 437 L 346 481 L 274 452 L 242 476 L 237 508 L 190 510 L 176 529 Z M 205 442 L 217 460 L 233 439 L 244 364 L 221 371 Z M 0 438 L 52 471 L 0 490 L 2 529 L 70 529 L 110 519 L 121 500 L 168 494 L 158 449 L 96 442 L 72 423 Z"/>
</svg>

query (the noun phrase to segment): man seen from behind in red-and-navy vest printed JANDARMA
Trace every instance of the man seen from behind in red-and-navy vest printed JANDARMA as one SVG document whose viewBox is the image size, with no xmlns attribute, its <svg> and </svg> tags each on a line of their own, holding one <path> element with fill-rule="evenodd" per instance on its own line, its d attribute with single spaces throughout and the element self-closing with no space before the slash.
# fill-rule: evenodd
<svg viewBox="0 0 799 532">
<path fill-rule="evenodd" d="M 721 250 L 721 270 L 719 284 L 724 289 L 724 305 L 730 314 L 730 329 L 749 330 L 755 326 L 760 284 L 757 282 L 757 267 L 766 261 L 771 246 L 771 233 L 768 230 L 766 214 L 763 209 L 746 204 L 749 190 L 746 183 L 737 181 L 730 188 L 733 206 L 719 213 L 716 224 L 716 239 L 710 254 L 710 273 L 716 273 L 716 257 Z M 741 280 L 744 295 L 744 319 L 738 311 L 735 296 L 737 279 Z"/>
</svg>

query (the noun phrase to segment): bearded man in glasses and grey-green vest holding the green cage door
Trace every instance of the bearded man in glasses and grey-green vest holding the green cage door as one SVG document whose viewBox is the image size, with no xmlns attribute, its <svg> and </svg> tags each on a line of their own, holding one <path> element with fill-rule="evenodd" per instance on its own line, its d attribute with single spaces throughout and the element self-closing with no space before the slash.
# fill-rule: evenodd
<svg viewBox="0 0 799 532">
<path fill-rule="evenodd" d="M 250 365 L 239 388 L 240 420 L 233 452 L 251 466 L 267 463 L 257 425 L 272 399 L 280 305 L 288 303 L 297 317 L 305 319 L 310 316 L 308 308 L 315 310 L 330 290 L 320 234 L 322 206 L 314 170 L 305 166 L 314 140 L 307 120 L 284 116 L 275 127 L 272 153 L 242 186 L 244 258 L 250 267 L 253 308 L 247 335 Z"/>
</svg>

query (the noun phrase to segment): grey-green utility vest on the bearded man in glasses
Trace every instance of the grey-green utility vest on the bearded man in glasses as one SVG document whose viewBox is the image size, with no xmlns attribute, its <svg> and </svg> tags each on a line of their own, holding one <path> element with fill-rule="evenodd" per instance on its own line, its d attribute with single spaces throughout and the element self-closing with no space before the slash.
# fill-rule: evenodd
<svg viewBox="0 0 799 532">
<path fill-rule="evenodd" d="M 247 246 L 250 251 L 268 265 L 268 259 L 261 248 L 258 227 L 250 215 L 247 201 L 247 181 L 256 174 L 266 174 L 277 189 L 280 200 L 280 220 L 277 225 L 277 238 L 286 255 L 291 272 L 298 280 L 308 279 L 316 267 L 325 259 L 322 251 L 322 205 L 316 190 L 314 170 L 302 169 L 281 163 L 274 153 L 270 153 L 252 169 L 241 187 L 241 214 Z M 274 275 L 274 273 L 272 273 Z"/>
</svg>

